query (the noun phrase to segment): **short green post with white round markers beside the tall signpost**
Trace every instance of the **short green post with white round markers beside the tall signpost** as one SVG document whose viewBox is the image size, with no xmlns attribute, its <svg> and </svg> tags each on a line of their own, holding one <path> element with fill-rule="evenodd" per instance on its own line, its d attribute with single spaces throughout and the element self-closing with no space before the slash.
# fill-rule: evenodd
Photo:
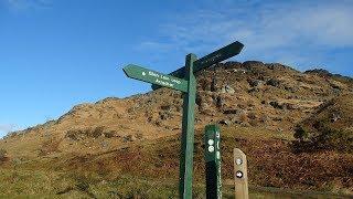
<svg viewBox="0 0 353 199">
<path fill-rule="evenodd" d="M 204 134 L 206 161 L 206 198 L 222 198 L 221 180 L 221 130 L 216 125 L 207 125 Z"/>
</svg>

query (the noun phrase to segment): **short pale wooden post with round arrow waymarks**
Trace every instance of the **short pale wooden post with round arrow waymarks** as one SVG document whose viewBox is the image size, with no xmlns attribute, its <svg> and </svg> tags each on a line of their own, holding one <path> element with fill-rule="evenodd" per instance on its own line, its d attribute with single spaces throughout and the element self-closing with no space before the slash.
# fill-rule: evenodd
<svg viewBox="0 0 353 199">
<path fill-rule="evenodd" d="M 234 185 L 236 199 L 249 198 L 247 181 L 246 155 L 240 149 L 234 148 Z"/>
</svg>

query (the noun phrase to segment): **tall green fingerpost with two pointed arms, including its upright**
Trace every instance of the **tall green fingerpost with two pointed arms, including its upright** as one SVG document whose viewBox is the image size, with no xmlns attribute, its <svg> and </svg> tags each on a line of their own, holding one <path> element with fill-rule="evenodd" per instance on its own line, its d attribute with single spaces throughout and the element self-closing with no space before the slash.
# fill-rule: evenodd
<svg viewBox="0 0 353 199">
<path fill-rule="evenodd" d="M 185 66 L 170 73 L 169 75 L 132 64 L 127 65 L 122 69 L 128 77 L 153 84 L 153 90 L 164 86 L 185 93 L 183 98 L 184 102 L 179 176 L 180 198 L 192 198 L 195 119 L 194 108 L 196 98 L 196 80 L 194 73 L 239 54 L 243 48 L 244 45 L 240 42 L 236 41 L 199 60 L 196 55 L 188 54 L 185 59 Z"/>
</svg>

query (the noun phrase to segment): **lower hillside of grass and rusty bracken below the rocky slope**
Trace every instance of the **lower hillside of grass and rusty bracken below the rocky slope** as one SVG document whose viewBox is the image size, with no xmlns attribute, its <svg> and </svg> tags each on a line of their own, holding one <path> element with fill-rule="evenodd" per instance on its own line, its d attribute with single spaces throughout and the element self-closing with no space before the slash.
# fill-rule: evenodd
<svg viewBox="0 0 353 199">
<path fill-rule="evenodd" d="M 254 193 L 264 193 L 257 187 L 352 193 L 351 155 L 334 151 L 298 155 L 288 145 L 292 139 L 286 134 L 261 128 L 223 127 L 225 195 L 232 196 L 234 147 L 242 148 L 248 156 Z M 199 198 L 204 196 L 202 140 L 202 132 L 199 132 L 194 151 L 195 196 Z M 0 180 L 7 186 L 0 192 L 8 196 L 176 197 L 179 148 L 180 138 L 172 135 L 95 155 L 7 161 L 0 169 Z"/>
</svg>

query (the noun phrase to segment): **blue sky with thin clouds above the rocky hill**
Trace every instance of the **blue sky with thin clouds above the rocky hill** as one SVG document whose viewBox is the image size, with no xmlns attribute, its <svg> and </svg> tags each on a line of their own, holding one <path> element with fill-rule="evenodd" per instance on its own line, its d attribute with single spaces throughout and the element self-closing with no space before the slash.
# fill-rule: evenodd
<svg viewBox="0 0 353 199">
<path fill-rule="evenodd" d="M 353 1 L 0 0 L 0 137 L 79 103 L 150 90 L 121 71 L 163 73 L 233 41 L 236 61 L 353 75 Z"/>
</svg>

